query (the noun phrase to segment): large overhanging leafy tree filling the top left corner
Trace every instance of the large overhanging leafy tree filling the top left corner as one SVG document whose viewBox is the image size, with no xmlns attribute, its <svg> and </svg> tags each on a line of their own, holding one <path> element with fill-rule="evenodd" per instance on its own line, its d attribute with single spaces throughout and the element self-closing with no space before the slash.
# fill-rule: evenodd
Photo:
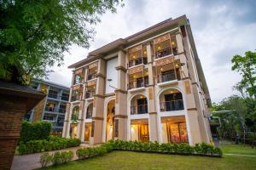
<svg viewBox="0 0 256 170">
<path fill-rule="evenodd" d="M 122 0 L 0 0 L 0 78 L 28 83 L 63 62 L 70 45 L 88 48 L 92 26 Z"/>
</svg>

